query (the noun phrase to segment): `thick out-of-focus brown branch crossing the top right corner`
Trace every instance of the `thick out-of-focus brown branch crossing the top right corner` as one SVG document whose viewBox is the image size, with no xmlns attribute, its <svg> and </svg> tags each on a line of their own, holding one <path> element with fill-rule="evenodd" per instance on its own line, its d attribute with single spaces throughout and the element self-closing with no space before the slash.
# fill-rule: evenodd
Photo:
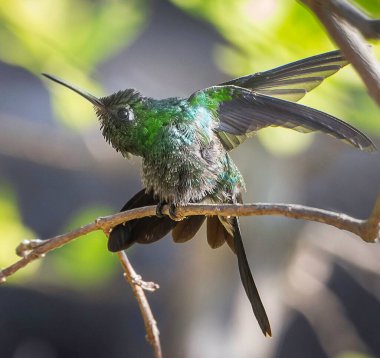
<svg viewBox="0 0 380 358">
<path fill-rule="evenodd" d="M 371 20 L 345 0 L 301 0 L 326 28 L 380 106 L 380 67 L 361 33 L 379 37 L 380 21 Z"/>
</svg>

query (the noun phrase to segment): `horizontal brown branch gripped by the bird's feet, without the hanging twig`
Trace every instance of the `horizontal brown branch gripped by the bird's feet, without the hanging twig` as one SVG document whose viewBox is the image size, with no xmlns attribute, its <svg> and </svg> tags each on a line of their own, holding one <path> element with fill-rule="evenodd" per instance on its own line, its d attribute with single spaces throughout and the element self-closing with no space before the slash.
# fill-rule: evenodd
<svg viewBox="0 0 380 358">
<path fill-rule="evenodd" d="M 168 214 L 168 212 L 169 208 L 167 206 L 164 207 L 163 213 Z M 379 238 L 380 199 L 378 199 L 368 220 L 360 220 L 342 213 L 293 204 L 189 204 L 178 208 L 176 214 L 180 217 L 192 215 L 286 216 L 293 219 L 304 219 L 332 225 L 339 229 L 350 231 L 358 235 L 366 242 L 375 242 Z M 128 210 L 118 214 L 98 218 L 93 223 L 70 231 L 67 234 L 55 236 L 49 240 L 44 240 L 40 246 L 31 249 L 30 252 L 28 252 L 22 259 L 1 270 L 0 281 L 4 282 L 8 276 L 11 276 L 24 266 L 28 265 L 30 262 L 45 255 L 49 251 L 77 239 L 80 236 L 96 230 L 102 230 L 107 233 L 112 227 L 120 223 L 155 215 L 155 206 L 146 206 L 143 208 Z"/>
</svg>

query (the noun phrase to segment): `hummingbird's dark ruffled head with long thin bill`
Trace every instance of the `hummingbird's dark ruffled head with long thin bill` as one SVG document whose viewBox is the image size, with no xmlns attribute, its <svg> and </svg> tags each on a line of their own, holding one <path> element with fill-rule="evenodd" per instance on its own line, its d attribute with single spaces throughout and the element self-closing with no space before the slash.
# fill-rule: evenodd
<svg viewBox="0 0 380 358">
<path fill-rule="evenodd" d="M 144 98 L 134 89 L 118 91 L 106 97 L 97 98 L 87 91 L 68 83 L 56 76 L 43 74 L 50 80 L 57 82 L 87 99 L 93 106 L 100 121 L 105 139 L 123 155 L 134 153 L 133 128 L 137 118 L 135 109 Z"/>
</svg>

